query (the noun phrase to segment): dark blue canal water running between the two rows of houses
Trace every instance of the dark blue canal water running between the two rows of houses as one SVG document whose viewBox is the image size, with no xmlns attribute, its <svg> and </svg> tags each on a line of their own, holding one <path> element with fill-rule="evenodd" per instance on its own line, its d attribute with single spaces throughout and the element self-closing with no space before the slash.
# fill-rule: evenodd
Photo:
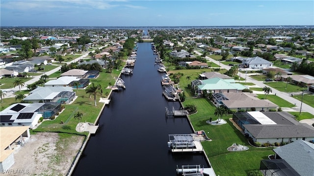
<svg viewBox="0 0 314 176">
<path fill-rule="evenodd" d="M 176 166 L 201 164 L 203 154 L 172 154 L 168 134 L 191 133 L 186 118 L 166 118 L 165 107 L 180 108 L 162 96 L 150 43 L 139 43 L 133 75 L 122 76 L 126 89 L 113 92 L 73 173 L 74 176 L 176 176 Z"/>
</svg>

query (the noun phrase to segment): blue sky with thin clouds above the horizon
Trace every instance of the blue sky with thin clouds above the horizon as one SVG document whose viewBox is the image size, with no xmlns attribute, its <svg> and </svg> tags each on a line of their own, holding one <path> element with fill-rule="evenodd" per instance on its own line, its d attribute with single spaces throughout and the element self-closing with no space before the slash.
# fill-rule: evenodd
<svg viewBox="0 0 314 176">
<path fill-rule="evenodd" d="M 0 0 L 0 26 L 314 25 L 314 0 Z"/>
</svg>

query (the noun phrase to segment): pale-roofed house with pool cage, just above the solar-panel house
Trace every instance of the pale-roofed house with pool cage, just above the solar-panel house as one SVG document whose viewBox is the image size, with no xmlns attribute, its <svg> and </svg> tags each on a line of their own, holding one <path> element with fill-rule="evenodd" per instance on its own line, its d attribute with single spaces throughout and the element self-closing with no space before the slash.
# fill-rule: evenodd
<svg viewBox="0 0 314 176">
<path fill-rule="evenodd" d="M 72 87 L 39 87 L 29 92 L 23 100 L 26 102 L 70 103 L 76 96 Z"/>
</svg>

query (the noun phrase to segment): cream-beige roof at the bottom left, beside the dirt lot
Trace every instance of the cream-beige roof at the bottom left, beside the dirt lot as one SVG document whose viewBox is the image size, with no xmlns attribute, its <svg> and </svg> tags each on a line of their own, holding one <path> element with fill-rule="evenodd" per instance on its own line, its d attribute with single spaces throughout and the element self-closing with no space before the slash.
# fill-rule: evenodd
<svg viewBox="0 0 314 176">
<path fill-rule="evenodd" d="M 4 150 L 18 137 L 20 137 L 29 127 L 27 126 L 13 126 L 0 127 L 0 162 L 4 161 L 15 150 Z"/>
</svg>

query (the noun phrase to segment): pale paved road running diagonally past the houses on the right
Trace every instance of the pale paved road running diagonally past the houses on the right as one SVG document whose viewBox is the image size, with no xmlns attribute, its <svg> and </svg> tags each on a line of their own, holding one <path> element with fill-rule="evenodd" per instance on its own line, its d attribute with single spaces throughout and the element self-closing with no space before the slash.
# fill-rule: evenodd
<svg viewBox="0 0 314 176">
<path fill-rule="evenodd" d="M 202 54 L 201 54 L 200 52 L 198 52 L 198 51 L 194 51 L 194 52 L 195 52 L 196 54 L 198 54 L 198 55 L 202 55 Z M 206 56 L 206 59 L 209 60 L 209 61 L 211 61 L 211 62 L 213 62 L 213 63 L 215 63 L 215 64 L 217 64 L 217 65 L 219 66 L 219 61 L 216 61 L 216 60 L 214 60 L 214 59 L 212 59 L 212 58 L 210 58 L 210 57 L 208 57 L 208 56 Z M 220 68 L 225 68 L 225 69 L 229 70 L 231 67 L 230 67 L 230 66 L 226 66 L 226 65 L 220 63 Z M 248 74 L 245 75 L 244 73 L 238 72 L 237 75 L 238 75 L 238 76 L 241 76 L 241 77 L 244 78 L 244 79 L 245 79 L 245 77 L 246 77 L 246 81 L 247 81 L 247 82 L 253 83 L 253 84 L 255 84 L 255 85 L 257 85 L 257 86 L 259 86 L 259 87 L 261 87 L 261 88 L 263 88 L 263 87 L 265 87 L 265 86 L 269 87 L 268 85 L 263 84 L 262 81 L 257 81 L 257 80 L 255 80 L 255 79 L 249 77 Z M 275 89 L 275 88 L 271 88 L 271 89 L 272 89 L 272 93 L 273 93 L 273 94 L 276 94 L 276 95 L 279 96 L 280 98 L 282 98 L 282 99 L 284 99 L 284 100 L 286 100 L 286 101 L 288 101 L 288 102 L 290 102 L 290 103 L 292 103 L 292 104 L 295 104 L 295 106 L 297 107 L 297 108 L 295 108 L 295 109 L 300 110 L 301 101 L 299 101 L 299 100 L 297 100 L 297 99 L 291 97 L 291 93 L 289 93 L 289 92 L 288 92 L 288 93 L 287 93 L 287 92 L 281 92 L 281 91 L 279 91 L 279 90 L 277 90 L 277 89 Z M 314 108 L 311 107 L 311 106 L 309 106 L 309 105 L 307 105 L 307 104 L 305 104 L 304 102 L 302 103 L 302 111 L 307 111 L 307 112 L 309 112 L 309 113 L 311 113 L 311 114 L 314 115 Z"/>
</svg>

